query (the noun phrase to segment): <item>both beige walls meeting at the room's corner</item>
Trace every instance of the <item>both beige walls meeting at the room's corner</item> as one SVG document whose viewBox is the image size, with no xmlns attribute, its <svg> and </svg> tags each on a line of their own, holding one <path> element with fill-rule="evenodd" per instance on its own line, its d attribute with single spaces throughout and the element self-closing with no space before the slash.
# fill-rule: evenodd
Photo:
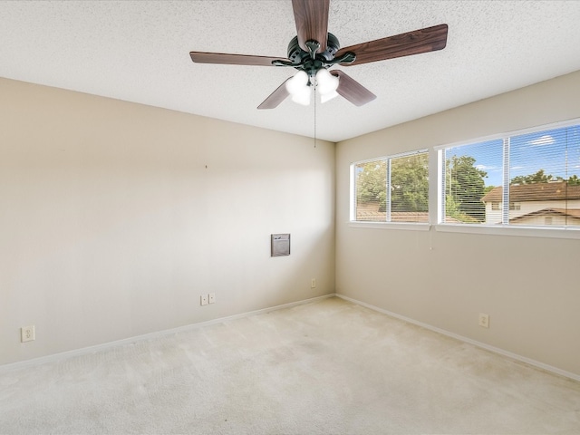
<svg viewBox="0 0 580 435">
<path fill-rule="evenodd" d="M 4 79 L 0 95 L 0 364 L 336 289 L 580 374 L 580 240 L 348 224 L 352 161 L 578 118 L 580 72 L 344 141 L 336 161 L 225 121 Z M 291 256 L 269 256 L 273 232 Z"/>
</svg>

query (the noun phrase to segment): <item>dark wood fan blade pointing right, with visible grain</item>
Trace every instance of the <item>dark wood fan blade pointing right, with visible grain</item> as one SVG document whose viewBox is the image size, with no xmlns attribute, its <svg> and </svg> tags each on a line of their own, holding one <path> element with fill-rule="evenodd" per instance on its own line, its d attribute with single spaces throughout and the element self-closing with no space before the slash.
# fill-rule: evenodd
<svg viewBox="0 0 580 435">
<path fill-rule="evenodd" d="M 406 34 L 396 34 L 368 43 L 351 45 L 340 49 L 334 57 L 339 57 L 346 52 L 355 53 L 356 59 L 353 63 L 343 63 L 343 66 L 349 66 L 411 56 L 411 54 L 434 52 L 445 48 L 447 28 L 447 24 L 434 25 Z"/>
</svg>

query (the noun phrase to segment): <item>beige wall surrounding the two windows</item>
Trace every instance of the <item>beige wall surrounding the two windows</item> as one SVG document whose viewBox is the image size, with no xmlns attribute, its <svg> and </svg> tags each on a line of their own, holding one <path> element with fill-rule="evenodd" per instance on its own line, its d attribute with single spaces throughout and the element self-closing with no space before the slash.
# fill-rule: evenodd
<svg viewBox="0 0 580 435">
<path fill-rule="evenodd" d="M 580 72 L 339 143 L 337 293 L 580 374 L 580 240 L 348 223 L 353 161 L 423 148 L 433 158 L 437 145 L 580 118 L 578 102 Z"/>
</svg>

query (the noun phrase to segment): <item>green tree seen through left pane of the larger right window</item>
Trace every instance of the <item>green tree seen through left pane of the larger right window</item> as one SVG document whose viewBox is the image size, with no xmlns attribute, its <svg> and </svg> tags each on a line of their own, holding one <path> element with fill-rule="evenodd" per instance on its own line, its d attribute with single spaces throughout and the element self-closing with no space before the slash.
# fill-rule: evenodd
<svg viewBox="0 0 580 435">
<path fill-rule="evenodd" d="M 486 218 L 485 170 L 477 169 L 470 156 L 450 156 L 446 165 L 446 215 L 463 222 L 483 222 Z"/>
</svg>

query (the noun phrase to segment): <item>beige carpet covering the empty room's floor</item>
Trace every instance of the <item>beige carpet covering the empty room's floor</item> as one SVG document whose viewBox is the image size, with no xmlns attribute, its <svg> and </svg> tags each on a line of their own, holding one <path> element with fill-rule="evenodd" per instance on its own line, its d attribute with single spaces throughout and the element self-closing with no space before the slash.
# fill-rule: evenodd
<svg viewBox="0 0 580 435">
<path fill-rule="evenodd" d="M 330 298 L 0 370 L 0 433 L 580 434 L 580 383 Z"/>
</svg>

